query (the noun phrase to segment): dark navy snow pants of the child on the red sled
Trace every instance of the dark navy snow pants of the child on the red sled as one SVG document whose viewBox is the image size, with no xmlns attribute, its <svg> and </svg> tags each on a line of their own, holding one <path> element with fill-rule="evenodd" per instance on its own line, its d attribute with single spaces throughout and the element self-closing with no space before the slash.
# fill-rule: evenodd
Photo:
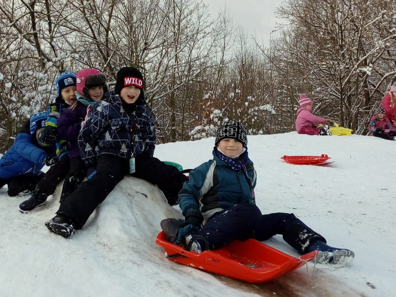
<svg viewBox="0 0 396 297">
<path fill-rule="evenodd" d="M 326 240 L 320 234 L 297 219 L 293 213 L 269 213 L 262 215 L 253 204 L 237 204 L 209 219 L 198 234 L 208 240 L 209 249 L 218 249 L 234 239 L 254 238 L 268 240 L 276 234 L 299 253 L 317 240 Z"/>
</svg>

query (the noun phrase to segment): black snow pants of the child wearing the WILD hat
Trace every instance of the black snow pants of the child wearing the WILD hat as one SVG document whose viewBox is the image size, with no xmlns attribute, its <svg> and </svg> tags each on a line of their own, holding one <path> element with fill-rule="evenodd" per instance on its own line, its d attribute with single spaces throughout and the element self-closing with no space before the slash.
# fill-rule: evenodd
<svg viewBox="0 0 396 297">
<path fill-rule="evenodd" d="M 171 165 L 166 165 L 148 154 L 139 154 L 135 158 L 135 173 L 129 173 L 129 160 L 112 154 L 97 157 L 96 174 L 81 183 L 57 211 L 73 221 L 76 229 L 82 228 L 89 216 L 101 204 L 126 174 L 145 179 L 163 192 L 177 195 L 187 177 Z"/>
</svg>

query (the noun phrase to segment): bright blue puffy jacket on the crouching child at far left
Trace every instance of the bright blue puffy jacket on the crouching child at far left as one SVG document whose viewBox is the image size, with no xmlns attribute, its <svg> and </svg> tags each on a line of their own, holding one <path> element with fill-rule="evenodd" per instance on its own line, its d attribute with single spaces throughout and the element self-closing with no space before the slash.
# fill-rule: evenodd
<svg viewBox="0 0 396 297">
<path fill-rule="evenodd" d="M 48 153 L 44 150 L 50 148 L 39 148 L 36 141 L 36 131 L 29 131 L 29 120 L 26 121 L 21 130 L 26 126 L 27 133 L 19 133 L 11 148 L 0 159 L 0 177 L 10 179 L 17 175 L 36 175 L 45 164 Z"/>
</svg>

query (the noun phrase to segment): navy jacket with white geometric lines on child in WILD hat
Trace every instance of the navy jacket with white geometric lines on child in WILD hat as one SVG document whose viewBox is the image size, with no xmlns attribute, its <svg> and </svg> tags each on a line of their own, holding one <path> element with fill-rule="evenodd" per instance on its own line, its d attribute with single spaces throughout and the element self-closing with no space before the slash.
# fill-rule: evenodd
<svg viewBox="0 0 396 297">
<path fill-rule="evenodd" d="M 128 114 L 121 105 L 121 97 L 113 92 L 108 101 L 100 101 L 92 108 L 87 122 L 78 135 L 80 156 L 86 166 L 101 154 L 131 158 L 142 152 L 150 156 L 155 148 L 155 122 L 146 107 L 143 91 L 136 101 L 136 110 Z"/>
</svg>

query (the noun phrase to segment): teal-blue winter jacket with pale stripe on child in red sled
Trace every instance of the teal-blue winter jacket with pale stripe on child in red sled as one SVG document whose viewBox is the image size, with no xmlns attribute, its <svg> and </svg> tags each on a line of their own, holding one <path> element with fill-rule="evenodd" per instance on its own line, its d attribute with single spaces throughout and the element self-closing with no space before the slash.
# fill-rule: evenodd
<svg viewBox="0 0 396 297">
<path fill-rule="evenodd" d="M 256 186 L 256 171 L 250 159 L 246 170 L 252 188 L 243 170 L 232 170 L 213 151 L 213 160 L 190 171 L 189 180 L 179 192 L 179 205 L 183 215 L 199 211 L 205 224 L 215 213 L 235 204 L 255 204 L 253 188 Z"/>
</svg>

